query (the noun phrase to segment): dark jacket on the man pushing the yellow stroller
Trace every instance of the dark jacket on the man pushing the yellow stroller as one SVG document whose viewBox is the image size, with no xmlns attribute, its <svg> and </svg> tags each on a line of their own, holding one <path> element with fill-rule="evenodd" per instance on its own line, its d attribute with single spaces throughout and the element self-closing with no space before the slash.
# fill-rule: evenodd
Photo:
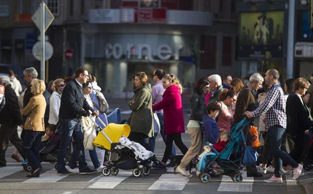
<svg viewBox="0 0 313 194">
<path fill-rule="evenodd" d="M 81 116 L 88 116 L 89 110 L 93 112 L 84 97 L 82 86 L 74 78 L 66 84 L 62 92 L 59 118 L 79 121 Z"/>
</svg>

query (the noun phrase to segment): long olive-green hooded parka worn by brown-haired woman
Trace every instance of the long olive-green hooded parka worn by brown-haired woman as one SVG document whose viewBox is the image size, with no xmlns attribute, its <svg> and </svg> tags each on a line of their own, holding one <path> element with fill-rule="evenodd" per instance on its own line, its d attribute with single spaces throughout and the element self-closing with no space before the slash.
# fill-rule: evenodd
<svg viewBox="0 0 313 194">
<path fill-rule="evenodd" d="M 129 126 L 132 132 L 153 136 L 151 85 L 141 85 L 134 89 L 134 96 L 129 103 L 131 109 Z"/>
</svg>

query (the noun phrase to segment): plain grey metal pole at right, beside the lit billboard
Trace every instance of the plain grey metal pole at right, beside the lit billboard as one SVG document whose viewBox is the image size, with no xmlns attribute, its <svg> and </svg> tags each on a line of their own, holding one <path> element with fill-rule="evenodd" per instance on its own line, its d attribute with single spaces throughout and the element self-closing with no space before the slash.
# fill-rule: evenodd
<svg viewBox="0 0 313 194">
<path fill-rule="evenodd" d="M 287 43 L 287 78 L 293 77 L 293 58 L 294 58 L 294 10 L 295 1 L 289 0 L 288 11 L 288 43 Z"/>
</svg>

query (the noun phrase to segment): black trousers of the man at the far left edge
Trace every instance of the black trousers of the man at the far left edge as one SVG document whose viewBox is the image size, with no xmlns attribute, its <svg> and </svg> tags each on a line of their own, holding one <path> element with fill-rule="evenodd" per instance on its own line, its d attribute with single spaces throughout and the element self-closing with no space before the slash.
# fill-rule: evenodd
<svg viewBox="0 0 313 194">
<path fill-rule="evenodd" d="M 1 125 L 0 126 L 0 164 L 6 164 L 6 151 L 9 141 L 18 149 L 24 160 L 26 159 L 23 147 L 23 141 L 18 135 L 18 125 Z"/>
</svg>

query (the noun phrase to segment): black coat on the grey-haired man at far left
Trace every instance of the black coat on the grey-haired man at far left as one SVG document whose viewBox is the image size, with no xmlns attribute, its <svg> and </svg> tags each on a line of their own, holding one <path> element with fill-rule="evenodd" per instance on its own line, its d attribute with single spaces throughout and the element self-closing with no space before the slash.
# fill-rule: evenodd
<svg viewBox="0 0 313 194">
<path fill-rule="evenodd" d="M 6 104 L 0 112 L 0 124 L 3 125 L 23 125 L 23 117 L 20 112 L 18 97 L 11 87 L 11 84 L 5 87 Z"/>
</svg>

